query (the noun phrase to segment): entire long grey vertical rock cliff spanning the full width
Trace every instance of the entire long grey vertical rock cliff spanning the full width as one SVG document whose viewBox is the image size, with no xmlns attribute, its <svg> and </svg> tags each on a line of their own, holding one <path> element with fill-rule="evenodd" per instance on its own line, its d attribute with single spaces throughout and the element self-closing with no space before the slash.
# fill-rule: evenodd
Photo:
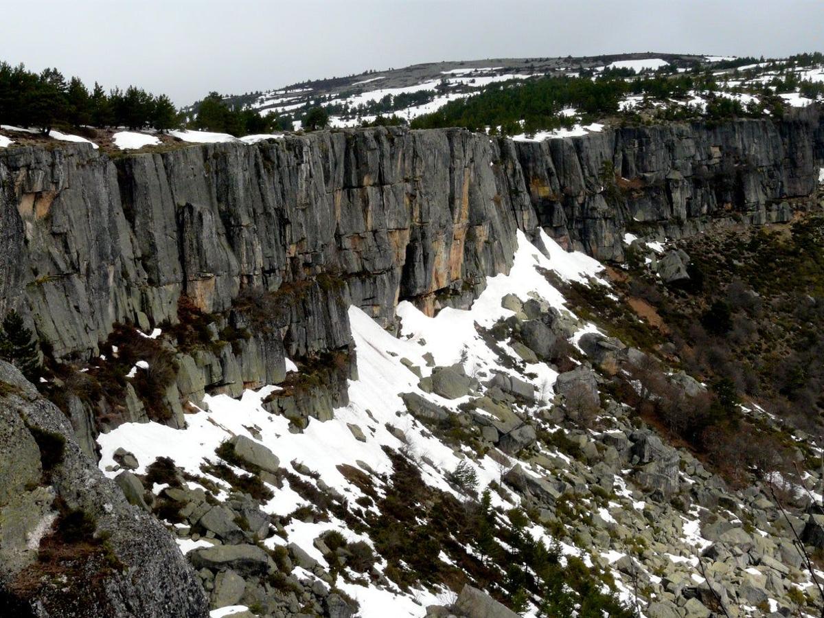
<svg viewBox="0 0 824 618">
<path fill-rule="evenodd" d="M 61 360 L 96 357 L 116 323 L 166 331 L 206 316 L 208 345 L 170 342 L 178 377 L 164 396 L 179 425 L 187 399 L 282 382 L 285 358 L 346 353 L 349 304 L 390 328 L 402 299 L 466 307 L 508 272 L 519 228 L 621 260 L 627 231 L 788 221 L 812 201 L 822 143 L 813 107 L 542 143 L 378 128 L 114 159 L 16 148 L 0 154 L 0 312 L 22 309 Z M 321 380 L 331 396 L 296 414 L 345 403 L 334 385 L 353 359 L 339 360 Z M 127 399 L 112 414 L 145 419 Z M 93 434 L 99 414 L 73 403 Z"/>
</svg>

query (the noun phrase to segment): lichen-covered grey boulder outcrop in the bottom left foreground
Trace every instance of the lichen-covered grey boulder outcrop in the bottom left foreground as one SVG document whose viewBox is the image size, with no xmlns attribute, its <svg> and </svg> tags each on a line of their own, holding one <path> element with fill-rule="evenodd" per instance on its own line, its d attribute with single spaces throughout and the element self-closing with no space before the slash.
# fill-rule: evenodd
<svg viewBox="0 0 824 618">
<path fill-rule="evenodd" d="M 74 441 L 68 419 L 3 362 L 0 452 L 0 597 L 8 611 L 208 615 L 166 529 L 127 502 Z"/>
</svg>

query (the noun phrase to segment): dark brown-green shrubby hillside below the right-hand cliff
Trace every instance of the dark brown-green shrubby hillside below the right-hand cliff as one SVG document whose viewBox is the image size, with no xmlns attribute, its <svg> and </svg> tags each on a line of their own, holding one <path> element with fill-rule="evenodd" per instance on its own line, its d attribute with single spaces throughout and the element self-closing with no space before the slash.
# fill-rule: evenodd
<svg viewBox="0 0 824 618">
<path fill-rule="evenodd" d="M 691 256 L 688 282 L 663 285 L 630 251 L 629 276 L 613 277 L 618 300 L 601 286 L 564 290 L 578 315 L 651 355 L 629 374 L 609 375 L 611 394 L 733 484 L 750 473 L 792 477 L 794 451 L 810 453 L 781 425 L 822 431 L 824 218 L 678 244 Z M 687 396 L 664 377 L 665 364 L 708 390 Z M 755 398 L 777 424 L 741 409 Z"/>
</svg>

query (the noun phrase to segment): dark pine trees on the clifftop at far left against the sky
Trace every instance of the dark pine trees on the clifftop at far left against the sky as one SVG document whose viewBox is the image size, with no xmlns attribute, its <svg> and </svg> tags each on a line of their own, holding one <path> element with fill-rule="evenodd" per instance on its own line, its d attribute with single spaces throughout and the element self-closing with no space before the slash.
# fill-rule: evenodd
<svg viewBox="0 0 824 618">
<path fill-rule="evenodd" d="M 107 93 L 98 83 L 90 91 L 79 77 L 67 81 L 56 68 L 32 73 L 8 63 L 0 63 L 0 119 L 43 133 L 84 125 L 159 131 L 180 126 L 178 110 L 166 95 L 133 86 Z"/>
</svg>

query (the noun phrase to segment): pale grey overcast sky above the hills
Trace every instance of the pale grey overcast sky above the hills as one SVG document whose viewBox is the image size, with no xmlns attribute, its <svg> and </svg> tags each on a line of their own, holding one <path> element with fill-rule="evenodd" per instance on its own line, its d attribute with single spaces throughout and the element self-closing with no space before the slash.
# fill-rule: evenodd
<svg viewBox="0 0 824 618">
<path fill-rule="evenodd" d="M 179 105 L 437 60 L 824 50 L 822 0 L 0 1 L 0 59 Z"/>
</svg>

